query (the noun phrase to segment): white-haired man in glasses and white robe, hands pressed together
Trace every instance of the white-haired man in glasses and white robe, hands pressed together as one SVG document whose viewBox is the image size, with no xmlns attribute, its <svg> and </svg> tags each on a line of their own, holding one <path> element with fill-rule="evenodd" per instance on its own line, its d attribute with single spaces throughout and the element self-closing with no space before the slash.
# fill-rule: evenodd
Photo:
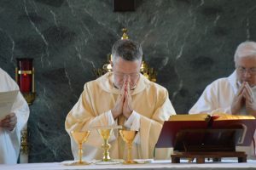
<svg viewBox="0 0 256 170">
<path fill-rule="evenodd" d="M 222 112 L 256 116 L 256 42 L 241 42 L 234 60 L 236 70 L 230 77 L 219 78 L 208 85 L 189 114 Z M 255 156 L 253 144 L 245 150 Z"/>
</svg>

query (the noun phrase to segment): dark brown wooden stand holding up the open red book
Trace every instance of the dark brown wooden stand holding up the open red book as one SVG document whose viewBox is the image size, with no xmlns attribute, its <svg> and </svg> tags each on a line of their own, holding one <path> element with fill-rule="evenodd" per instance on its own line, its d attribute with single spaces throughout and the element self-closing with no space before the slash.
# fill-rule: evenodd
<svg viewBox="0 0 256 170">
<path fill-rule="evenodd" d="M 242 135 L 241 128 L 234 129 L 183 129 L 177 133 L 172 163 L 181 158 L 195 158 L 204 163 L 206 158 L 221 161 L 223 157 L 237 157 L 238 162 L 247 162 L 245 152 L 236 151 L 236 143 Z M 194 139 L 191 139 L 194 138 Z"/>
</svg>

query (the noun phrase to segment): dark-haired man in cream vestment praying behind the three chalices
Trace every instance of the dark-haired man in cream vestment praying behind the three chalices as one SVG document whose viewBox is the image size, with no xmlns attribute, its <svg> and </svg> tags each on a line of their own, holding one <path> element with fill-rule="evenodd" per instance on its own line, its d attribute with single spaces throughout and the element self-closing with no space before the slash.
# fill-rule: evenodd
<svg viewBox="0 0 256 170">
<path fill-rule="evenodd" d="M 142 48 L 137 42 L 119 40 L 112 48 L 113 72 L 87 82 L 79 101 L 66 118 L 66 130 L 83 131 L 95 126 L 122 125 L 138 130 L 134 140 L 133 158 L 165 159 L 170 149 L 156 149 L 163 122 L 176 114 L 166 88 L 148 81 L 139 73 Z M 112 159 L 126 158 L 127 146 L 113 131 L 109 139 Z M 78 159 L 78 146 L 71 137 L 73 156 Z M 102 159 L 102 139 L 96 130 L 90 131 L 84 144 L 84 160 Z"/>
</svg>

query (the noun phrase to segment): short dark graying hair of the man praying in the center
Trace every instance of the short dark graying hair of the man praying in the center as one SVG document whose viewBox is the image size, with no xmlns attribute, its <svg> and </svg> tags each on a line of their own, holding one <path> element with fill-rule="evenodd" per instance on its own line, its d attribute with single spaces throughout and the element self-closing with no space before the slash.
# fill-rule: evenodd
<svg viewBox="0 0 256 170">
<path fill-rule="evenodd" d="M 141 61 L 143 59 L 143 48 L 138 42 L 131 41 L 130 39 L 118 40 L 113 44 L 112 56 L 113 61 L 117 57 L 128 61 Z"/>
</svg>

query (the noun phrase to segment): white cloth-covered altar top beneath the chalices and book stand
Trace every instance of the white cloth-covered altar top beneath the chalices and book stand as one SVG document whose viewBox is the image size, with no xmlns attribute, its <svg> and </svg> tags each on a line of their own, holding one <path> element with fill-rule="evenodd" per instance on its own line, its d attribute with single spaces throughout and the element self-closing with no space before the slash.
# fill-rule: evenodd
<svg viewBox="0 0 256 170">
<path fill-rule="evenodd" d="M 247 160 L 246 163 L 237 163 L 236 160 L 224 160 L 220 163 L 206 161 L 204 164 L 197 164 L 195 162 L 188 163 L 187 160 L 182 160 L 181 163 L 171 163 L 169 160 L 151 161 L 150 163 L 134 164 L 134 165 L 95 165 L 88 166 L 65 166 L 64 162 L 45 162 L 45 163 L 25 163 L 16 165 L 0 165 L 1 170 L 66 170 L 66 169 L 172 169 L 172 170 L 196 170 L 196 169 L 256 169 L 256 160 Z"/>
</svg>

